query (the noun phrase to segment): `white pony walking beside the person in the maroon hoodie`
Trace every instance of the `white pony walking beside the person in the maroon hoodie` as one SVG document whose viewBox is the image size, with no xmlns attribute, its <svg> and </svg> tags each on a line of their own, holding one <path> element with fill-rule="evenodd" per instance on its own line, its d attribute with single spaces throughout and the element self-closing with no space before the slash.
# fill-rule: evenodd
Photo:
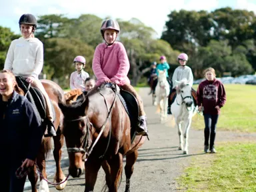
<svg viewBox="0 0 256 192">
<path fill-rule="evenodd" d="M 178 129 L 179 135 L 179 150 L 183 150 L 183 154 L 189 153 L 189 128 L 191 125 L 191 119 L 197 111 L 197 107 L 193 103 L 193 97 L 191 95 L 191 86 L 187 82 L 187 79 L 176 81 L 178 83 L 176 87 L 177 96 L 175 101 L 171 105 L 171 113 L 175 118 L 175 124 Z M 184 127 L 184 128 L 183 128 Z M 183 146 L 183 133 L 185 129 L 184 139 L 185 145 Z"/>
</svg>

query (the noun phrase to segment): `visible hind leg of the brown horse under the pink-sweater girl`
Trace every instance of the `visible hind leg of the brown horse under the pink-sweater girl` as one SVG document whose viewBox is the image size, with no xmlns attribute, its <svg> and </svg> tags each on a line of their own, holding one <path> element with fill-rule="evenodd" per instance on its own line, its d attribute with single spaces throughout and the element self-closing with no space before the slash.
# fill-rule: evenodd
<svg viewBox="0 0 256 192">
<path fill-rule="evenodd" d="M 138 157 L 138 151 L 135 150 L 133 153 L 129 153 L 126 156 L 126 165 L 125 165 L 125 176 L 126 176 L 126 185 L 125 192 L 130 192 L 130 179 L 131 175 L 133 175 L 133 165 L 136 162 Z"/>
</svg>

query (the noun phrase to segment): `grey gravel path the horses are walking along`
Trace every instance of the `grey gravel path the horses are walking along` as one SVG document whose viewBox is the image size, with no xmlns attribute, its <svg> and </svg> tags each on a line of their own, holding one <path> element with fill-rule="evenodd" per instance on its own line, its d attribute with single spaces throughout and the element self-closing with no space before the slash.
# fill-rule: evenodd
<svg viewBox="0 0 256 192">
<path fill-rule="evenodd" d="M 148 118 L 149 139 L 139 149 L 139 157 L 133 175 L 131 177 L 132 192 L 146 191 L 179 191 L 175 178 L 183 173 L 183 169 L 189 166 L 191 158 L 195 155 L 204 155 L 203 153 L 203 131 L 195 131 L 192 128 L 189 131 L 189 155 L 183 155 L 178 151 L 179 137 L 177 130 L 171 126 L 171 116 L 167 123 L 160 124 L 159 114 L 155 113 L 156 107 L 151 103 L 151 97 L 148 88 L 140 89 L 140 95 L 143 98 L 145 111 Z M 203 118 L 203 117 L 199 117 Z M 229 131 L 217 131 L 216 144 L 222 141 L 243 141 L 255 140 L 256 134 L 233 133 Z M 66 152 L 66 149 L 63 149 Z M 67 175 L 68 160 L 67 153 L 63 155 L 63 170 Z M 95 191 L 101 191 L 104 186 L 104 174 L 100 169 Z M 52 177 L 50 177 L 52 179 Z M 79 179 L 70 178 L 63 191 L 84 191 L 84 175 Z M 53 186 L 49 186 L 50 191 L 57 191 Z M 25 191 L 31 191 L 29 189 Z M 119 191 L 125 191 L 125 173 Z"/>
</svg>

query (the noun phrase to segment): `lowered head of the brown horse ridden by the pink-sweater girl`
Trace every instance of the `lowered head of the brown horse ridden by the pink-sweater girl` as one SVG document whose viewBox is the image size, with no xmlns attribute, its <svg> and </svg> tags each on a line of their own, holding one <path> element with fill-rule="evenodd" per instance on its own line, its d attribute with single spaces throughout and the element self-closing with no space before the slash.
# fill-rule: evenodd
<svg viewBox="0 0 256 192">
<path fill-rule="evenodd" d="M 85 135 L 87 132 L 87 119 L 85 108 L 87 100 L 73 102 L 68 105 L 59 103 L 64 115 L 62 133 L 65 137 L 69 155 L 69 173 L 72 177 L 79 177 L 85 171 Z"/>
</svg>

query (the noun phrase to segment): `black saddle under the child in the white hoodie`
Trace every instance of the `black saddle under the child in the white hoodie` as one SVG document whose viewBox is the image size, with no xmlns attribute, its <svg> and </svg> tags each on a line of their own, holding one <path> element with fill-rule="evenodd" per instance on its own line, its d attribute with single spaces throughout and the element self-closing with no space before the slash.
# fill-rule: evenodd
<svg viewBox="0 0 256 192">
<path fill-rule="evenodd" d="M 43 93 L 39 91 L 36 87 L 32 87 L 25 81 L 24 77 L 16 77 L 16 81 L 18 86 L 24 91 L 25 97 L 32 103 L 33 109 L 37 114 L 37 117 L 41 119 L 43 122 L 46 118 L 46 101 L 43 97 Z M 51 100 L 50 100 L 51 101 Z M 53 119 L 55 120 L 55 110 L 53 108 L 53 104 L 51 103 L 52 111 L 53 111 Z"/>
</svg>

